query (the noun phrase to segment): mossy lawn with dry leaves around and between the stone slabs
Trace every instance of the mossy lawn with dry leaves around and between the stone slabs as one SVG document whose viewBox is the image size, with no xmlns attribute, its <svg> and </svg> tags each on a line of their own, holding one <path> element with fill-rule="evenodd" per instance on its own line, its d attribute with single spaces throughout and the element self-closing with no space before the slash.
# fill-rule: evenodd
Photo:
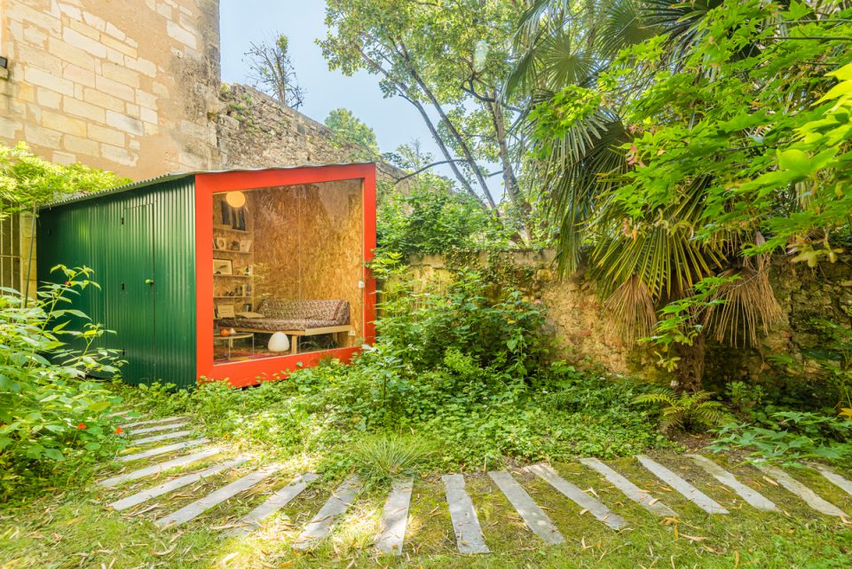
<svg viewBox="0 0 852 569">
<path fill-rule="evenodd" d="M 665 458 L 664 458 L 665 457 Z M 545 547 L 526 529 L 507 499 L 484 473 L 466 475 L 468 492 L 483 527 L 488 555 L 455 552 L 443 485 L 434 473 L 418 477 L 414 486 L 406 547 L 401 557 L 377 557 L 368 547 L 377 530 L 386 488 L 368 488 L 335 528 L 332 536 L 310 553 L 290 549 L 301 526 L 319 509 L 333 489 L 320 480 L 280 514 L 245 538 L 221 539 L 222 527 L 259 502 L 261 494 L 280 486 L 304 469 L 293 460 L 280 477 L 211 510 L 180 529 L 161 530 L 152 519 L 176 510 L 195 494 L 224 483 L 201 483 L 198 492 L 178 492 L 157 507 L 143 504 L 135 515 L 106 510 L 104 501 L 122 491 L 94 490 L 86 484 L 54 488 L 37 496 L 21 496 L 4 508 L 0 519 L 0 552 L 4 569 L 59 567 L 848 567 L 852 566 L 852 527 L 836 518 L 808 510 L 782 488 L 770 485 L 757 470 L 724 464 L 742 481 L 760 491 L 780 511 L 759 512 L 744 505 L 724 486 L 684 458 L 670 452 L 659 459 L 673 470 L 688 472 L 691 481 L 730 510 L 708 516 L 679 494 L 655 482 L 631 458 L 608 463 L 646 487 L 680 514 L 655 518 L 617 489 L 577 463 L 556 464 L 566 479 L 593 488 L 602 502 L 626 518 L 629 526 L 615 532 L 568 502 L 545 482 L 516 471 L 516 478 L 548 513 L 565 543 Z M 717 460 L 718 457 L 717 457 Z M 104 465 L 101 470 L 111 470 Z M 245 470 L 227 476 L 238 478 Z M 809 487 L 844 510 L 852 497 L 807 470 L 796 471 Z M 126 493 L 126 491 L 125 491 Z"/>
</svg>

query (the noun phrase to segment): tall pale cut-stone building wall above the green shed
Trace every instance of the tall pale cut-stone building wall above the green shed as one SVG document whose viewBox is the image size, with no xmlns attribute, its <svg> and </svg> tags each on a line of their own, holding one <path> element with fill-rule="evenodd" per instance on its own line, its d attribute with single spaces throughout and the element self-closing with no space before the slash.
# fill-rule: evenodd
<svg viewBox="0 0 852 569">
<path fill-rule="evenodd" d="M 0 0 L 0 141 L 142 179 L 218 166 L 218 0 Z"/>
</svg>

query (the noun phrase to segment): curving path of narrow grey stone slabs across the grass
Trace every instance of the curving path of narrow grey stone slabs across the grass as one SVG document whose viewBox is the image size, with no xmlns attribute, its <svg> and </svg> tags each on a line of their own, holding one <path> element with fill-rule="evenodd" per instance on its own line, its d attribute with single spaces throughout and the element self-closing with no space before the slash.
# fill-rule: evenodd
<svg viewBox="0 0 852 569">
<path fill-rule="evenodd" d="M 138 468 L 126 471 L 122 469 L 115 473 L 114 476 L 100 480 L 98 482 L 99 486 L 104 488 L 120 488 L 122 485 L 134 480 L 165 478 L 160 484 L 154 483 L 153 486 L 149 485 L 141 490 L 136 487 L 131 494 L 124 495 L 123 497 L 116 496 L 116 499 L 107 506 L 112 510 L 129 510 L 146 502 L 153 501 L 160 496 L 171 494 L 180 488 L 195 485 L 201 481 L 207 481 L 205 486 L 209 486 L 215 477 L 225 475 L 253 460 L 253 457 L 248 454 L 230 458 L 220 457 L 220 454 L 224 454 L 221 448 L 205 447 L 210 443 L 210 439 L 199 436 L 191 429 L 185 429 L 185 427 L 190 425 L 186 417 L 176 416 L 164 419 L 137 420 L 139 419 L 138 414 L 132 411 L 122 411 L 109 416 L 116 420 L 132 421 L 131 423 L 122 424 L 122 430 L 128 436 L 134 437 L 130 439 L 133 447 L 140 448 L 137 449 L 137 452 L 118 457 L 117 460 L 134 466 L 138 465 Z M 138 438 L 138 435 L 146 435 L 147 433 L 156 434 Z M 161 441 L 174 442 L 160 447 L 146 447 L 146 445 Z M 199 450 L 200 447 L 201 450 Z M 174 455 L 177 453 L 184 454 L 180 454 L 169 460 L 154 462 L 162 455 Z M 774 502 L 771 502 L 753 488 L 743 484 L 730 471 L 723 469 L 717 462 L 701 454 L 687 454 L 686 457 L 694 462 L 698 468 L 715 478 L 720 484 L 730 488 L 733 493 L 742 498 L 749 506 L 761 511 L 778 510 Z M 639 454 L 635 458 L 654 477 L 659 478 L 663 484 L 675 490 L 678 494 L 681 494 L 686 500 L 692 502 L 707 514 L 718 515 L 729 513 L 721 504 L 715 502 L 710 496 L 704 494 L 696 486 L 693 486 L 686 479 L 678 476 L 663 464 L 644 454 Z M 201 470 L 184 474 L 172 471 L 192 466 L 195 462 L 201 461 L 212 463 L 207 464 Z M 594 472 L 597 476 L 603 477 L 608 483 L 627 496 L 628 499 L 638 503 L 645 510 L 659 517 L 678 518 L 675 510 L 654 498 L 650 492 L 637 486 L 635 482 L 627 479 L 627 477 L 618 471 L 613 470 L 604 462 L 596 458 L 581 458 L 579 462 L 588 469 L 588 474 L 591 475 Z M 848 480 L 848 478 L 844 478 L 838 472 L 822 464 L 811 464 L 809 466 L 833 485 L 852 495 L 852 481 Z M 801 498 L 810 509 L 827 516 L 838 517 L 844 520 L 847 518 L 846 514 L 840 508 L 824 500 L 824 498 L 817 495 L 808 486 L 805 486 L 801 481 L 793 478 L 784 470 L 768 465 L 759 466 L 758 468 L 765 474 L 764 478 L 774 481 L 777 485 Z M 219 486 L 207 495 L 197 495 L 197 498 L 193 502 L 162 516 L 154 524 L 162 528 L 180 526 L 191 522 L 204 512 L 218 506 L 221 506 L 221 509 L 226 509 L 227 506 L 222 506 L 222 504 L 232 498 L 236 498 L 236 500 L 250 499 L 246 494 L 248 490 L 256 487 L 264 480 L 277 480 L 280 477 L 276 477 L 276 475 L 280 470 L 281 467 L 278 464 L 253 468 L 242 475 L 241 478 L 237 478 L 224 486 Z M 613 530 L 621 530 L 628 526 L 625 518 L 612 511 L 599 498 L 589 495 L 580 489 L 580 486 L 576 486 L 572 482 L 562 478 L 548 464 L 534 464 L 521 471 L 532 473 L 545 480 L 548 485 L 553 487 L 554 491 L 563 494 L 564 497 L 576 503 L 582 509 L 579 512 L 580 515 L 588 512 L 598 521 Z M 493 484 L 500 489 L 501 493 L 506 496 L 511 506 L 517 511 L 517 514 L 524 520 L 529 530 L 542 541 L 543 545 L 556 545 L 566 541 L 563 533 L 560 532 L 560 528 L 548 517 L 545 510 L 535 502 L 533 497 L 525 489 L 525 486 L 511 472 L 507 470 L 494 470 L 488 472 L 488 476 L 491 478 Z M 272 492 L 263 502 L 257 504 L 253 510 L 248 511 L 247 514 L 242 516 L 238 522 L 227 526 L 227 531 L 223 532 L 222 536 L 239 538 L 256 531 L 266 518 L 282 510 L 289 503 L 298 500 L 304 493 L 304 490 L 317 480 L 319 480 L 319 476 L 312 472 L 304 472 L 296 476 L 296 478 L 290 478 L 287 484 L 280 486 L 279 489 Z M 480 526 L 479 518 L 477 518 L 476 504 L 467 492 L 464 475 L 446 474 L 442 477 L 442 481 L 445 486 L 446 509 L 452 522 L 456 547 L 459 552 L 462 554 L 489 553 L 490 550 L 485 544 L 485 535 L 483 534 L 482 526 Z M 304 526 L 292 547 L 294 549 L 312 549 L 323 539 L 327 538 L 329 534 L 333 533 L 335 523 L 343 518 L 346 511 L 358 500 L 362 487 L 363 483 L 357 475 L 351 475 L 349 478 L 346 478 L 340 486 L 337 486 L 330 493 L 327 497 L 327 502 L 322 505 L 311 521 Z M 405 547 L 408 511 L 413 489 L 414 480 L 412 478 L 398 479 L 392 482 L 390 493 L 384 503 L 379 532 L 374 541 L 376 551 L 391 555 L 402 554 Z M 198 488 L 195 489 L 195 492 L 197 491 Z M 191 492 L 193 491 L 191 490 Z M 594 494 L 594 490 L 590 490 L 590 492 Z M 616 504 L 620 503 L 616 502 Z M 148 510 L 150 509 L 148 508 Z M 569 531 L 571 529 L 571 527 L 563 528 L 563 530 Z"/>
</svg>

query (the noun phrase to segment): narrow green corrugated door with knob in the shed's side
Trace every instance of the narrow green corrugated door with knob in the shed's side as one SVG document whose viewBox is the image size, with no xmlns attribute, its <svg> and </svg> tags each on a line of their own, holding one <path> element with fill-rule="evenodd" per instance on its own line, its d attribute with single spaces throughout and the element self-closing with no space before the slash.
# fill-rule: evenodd
<svg viewBox="0 0 852 569">
<path fill-rule="evenodd" d="M 156 284 L 154 275 L 153 205 L 146 203 L 122 213 L 120 261 L 119 342 L 127 364 L 122 375 L 130 383 L 150 383 L 156 379 Z"/>
</svg>

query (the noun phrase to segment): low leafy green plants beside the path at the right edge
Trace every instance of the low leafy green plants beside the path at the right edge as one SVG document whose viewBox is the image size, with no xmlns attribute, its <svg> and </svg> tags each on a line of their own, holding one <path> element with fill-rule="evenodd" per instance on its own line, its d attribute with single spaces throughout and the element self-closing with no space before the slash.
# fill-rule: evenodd
<svg viewBox="0 0 852 569">
<path fill-rule="evenodd" d="M 831 415 L 778 411 L 755 423 L 729 423 L 717 431 L 716 452 L 738 449 L 751 460 L 800 466 L 802 460 L 852 462 L 852 421 Z"/>
</svg>

